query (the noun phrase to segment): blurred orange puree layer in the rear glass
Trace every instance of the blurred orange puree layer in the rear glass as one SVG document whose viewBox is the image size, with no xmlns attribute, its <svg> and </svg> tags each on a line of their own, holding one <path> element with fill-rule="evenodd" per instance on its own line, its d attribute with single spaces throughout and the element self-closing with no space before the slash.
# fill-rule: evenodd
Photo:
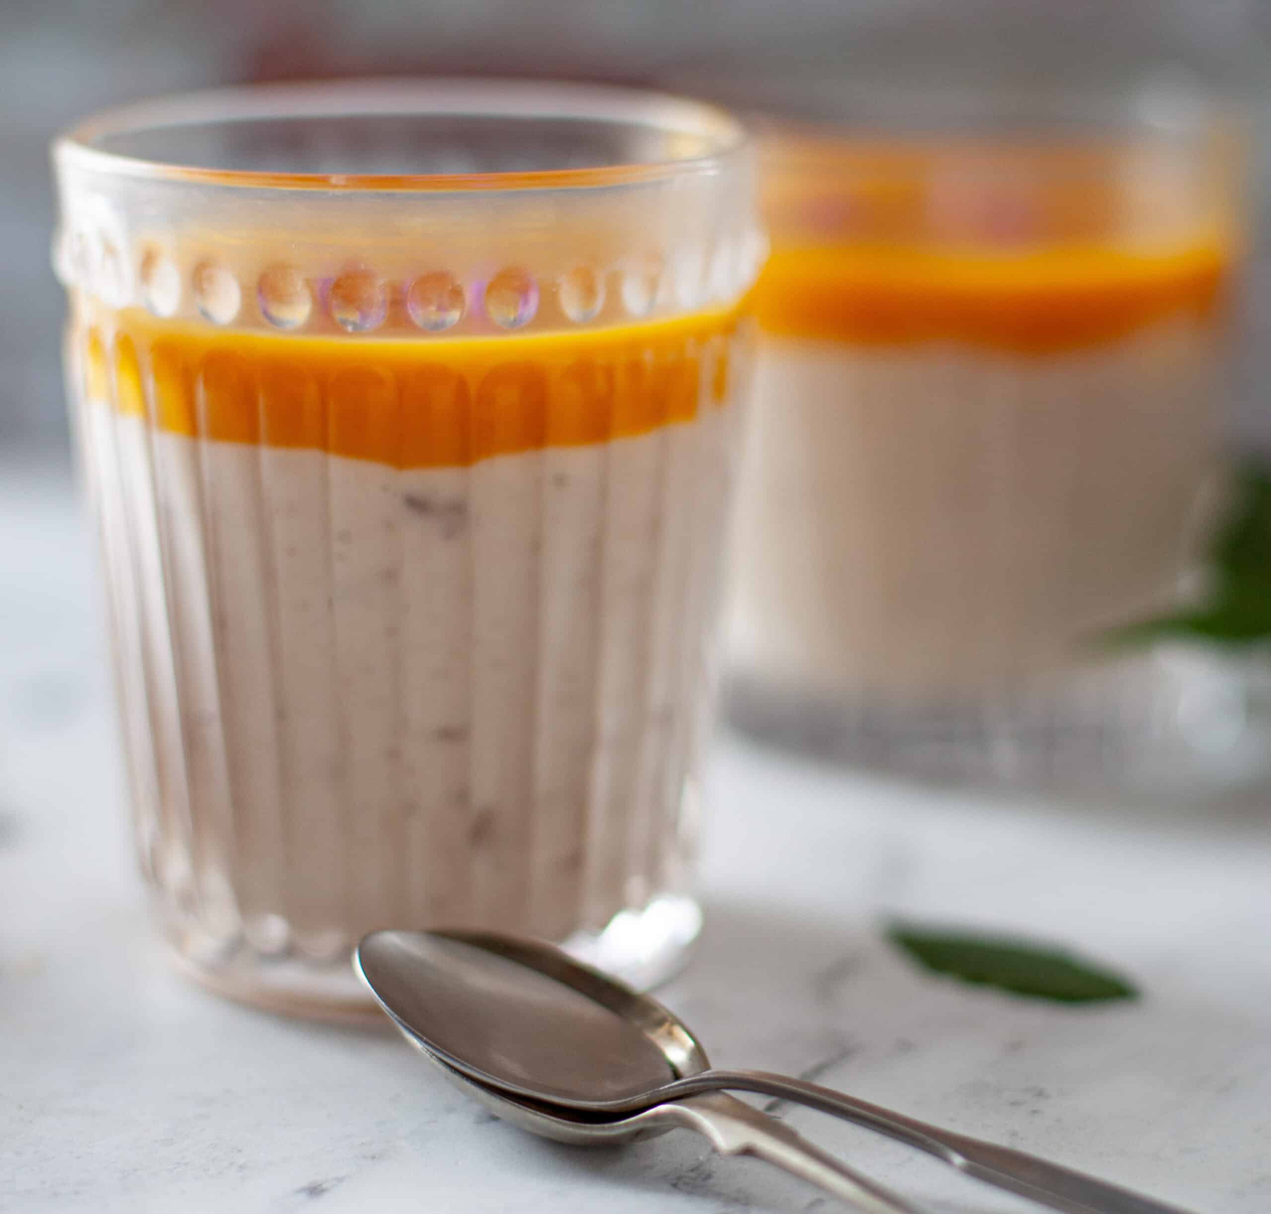
<svg viewBox="0 0 1271 1214">
<path fill-rule="evenodd" d="M 853 346 L 958 342 L 1049 355 L 1120 341 L 1176 315 L 1213 317 L 1229 277 L 1216 244 L 1159 253 L 816 245 L 774 250 L 760 328 Z"/>
</svg>

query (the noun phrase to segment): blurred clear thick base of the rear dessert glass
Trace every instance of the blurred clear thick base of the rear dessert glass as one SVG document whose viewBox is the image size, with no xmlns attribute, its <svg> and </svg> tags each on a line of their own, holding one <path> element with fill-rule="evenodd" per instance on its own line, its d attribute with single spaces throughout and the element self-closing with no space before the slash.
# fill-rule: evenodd
<svg viewBox="0 0 1271 1214">
<path fill-rule="evenodd" d="M 924 703 L 724 680 L 728 723 L 811 758 L 942 783 L 1074 793 L 1216 793 L 1263 778 L 1249 671 L 1193 650 L 1082 667 L 977 699 Z"/>
</svg>

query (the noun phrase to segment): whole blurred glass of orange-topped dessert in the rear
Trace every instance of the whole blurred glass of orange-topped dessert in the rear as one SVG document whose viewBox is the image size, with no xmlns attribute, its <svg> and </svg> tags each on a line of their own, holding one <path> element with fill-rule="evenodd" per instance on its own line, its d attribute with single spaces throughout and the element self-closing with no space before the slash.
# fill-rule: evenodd
<svg viewBox="0 0 1271 1214">
<path fill-rule="evenodd" d="M 763 145 L 731 712 L 938 775 L 1163 770 L 1221 676 L 1102 638 L 1196 568 L 1229 116 L 1168 92 L 871 99 Z"/>
</svg>

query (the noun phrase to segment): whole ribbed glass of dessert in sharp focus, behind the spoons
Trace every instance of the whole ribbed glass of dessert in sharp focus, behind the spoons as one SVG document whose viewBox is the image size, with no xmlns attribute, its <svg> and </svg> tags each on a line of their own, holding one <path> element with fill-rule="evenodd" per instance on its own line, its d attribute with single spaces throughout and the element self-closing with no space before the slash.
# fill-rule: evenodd
<svg viewBox="0 0 1271 1214">
<path fill-rule="evenodd" d="M 55 149 L 66 367 L 137 852 L 182 961 L 313 1014 L 484 925 L 647 983 L 693 774 L 756 275 L 719 111 L 229 90 Z"/>
</svg>

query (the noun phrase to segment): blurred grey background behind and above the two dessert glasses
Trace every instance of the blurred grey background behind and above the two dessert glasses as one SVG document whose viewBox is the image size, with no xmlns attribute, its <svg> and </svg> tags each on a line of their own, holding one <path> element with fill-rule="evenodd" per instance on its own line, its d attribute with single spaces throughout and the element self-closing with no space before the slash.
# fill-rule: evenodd
<svg viewBox="0 0 1271 1214">
<path fill-rule="evenodd" d="M 66 449 L 58 370 L 62 299 L 48 266 L 47 146 L 109 103 L 240 81 L 473 72 L 630 84 L 820 58 L 880 31 L 953 28 L 993 55 L 1149 53 L 1251 89 L 1271 55 L 1271 0 L 51 0 L 0 6 L 0 442 Z M 1041 33 L 1038 34 L 1038 31 Z M 944 37 L 942 29 L 939 38 Z M 938 39 L 937 39 L 938 41 Z M 995 42 L 1000 44 L 994 44 Z M 1150 43 L 1150 44 L 1149 44 Z M 1026 46 L 1026 50 L 1021 50 Z M 1026 69 L 1030 66 L 1024 64 Z M 1260 182 L 1271 178 L 1261 135 Z M 1258 388 L 1271 378 L 1271 225 L 1258 188 L 1256 250 L 1240 325 L 1234 431 L 1271 444 Z"/>
</svg>

